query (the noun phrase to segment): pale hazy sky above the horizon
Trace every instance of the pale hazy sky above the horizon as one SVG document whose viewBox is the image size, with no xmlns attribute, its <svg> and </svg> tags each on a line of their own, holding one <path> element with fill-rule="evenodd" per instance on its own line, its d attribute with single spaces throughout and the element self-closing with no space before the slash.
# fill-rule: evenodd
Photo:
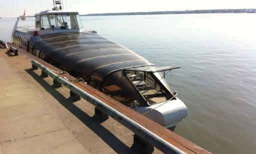
<svg viewBox="0 0 256 154">
<path fill-rule="evenodd" d="M 215 8 L 256 8 L 256 0 L 63 0 L 64 7 L 80 14 Z M 0 16 L 33 15 L 52 8 L 52 0 L 0 0 Z"/>
</svg>

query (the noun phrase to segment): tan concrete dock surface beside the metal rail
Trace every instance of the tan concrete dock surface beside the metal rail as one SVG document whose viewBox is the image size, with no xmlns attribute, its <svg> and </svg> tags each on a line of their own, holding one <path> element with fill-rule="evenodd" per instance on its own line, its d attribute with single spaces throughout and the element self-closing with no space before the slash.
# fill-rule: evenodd
<svg viewBox="0 0 256 154">
<path fill-rule="evenodd" d="M 29 59 L 0 48 L 0 154 L 139 153 L 130 130 L 100 121 L 94 106 L 30 68 Z"/>
</svg>

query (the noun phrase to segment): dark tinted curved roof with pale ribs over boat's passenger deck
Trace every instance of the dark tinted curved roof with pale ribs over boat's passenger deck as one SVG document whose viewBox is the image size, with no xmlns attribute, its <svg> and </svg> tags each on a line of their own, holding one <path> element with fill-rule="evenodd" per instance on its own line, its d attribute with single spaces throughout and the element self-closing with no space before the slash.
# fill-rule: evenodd
<svg viewBox="0 0 256 154">
<path fill-rule="evenodd" d="M 91 32 L 44 34 L 33 37 L 29 44 L 60 65 L 99 81 L 117 70 L 154 65 L 122 45 Z"/>
</svg>

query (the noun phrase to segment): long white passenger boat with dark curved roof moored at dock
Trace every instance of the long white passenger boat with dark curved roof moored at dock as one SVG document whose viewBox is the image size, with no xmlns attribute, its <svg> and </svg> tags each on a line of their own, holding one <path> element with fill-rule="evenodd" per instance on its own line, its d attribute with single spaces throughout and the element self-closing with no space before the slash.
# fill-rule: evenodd
<svg viewBox="0 0 256 154">
<path fill-rule="evenodd" d="M 35 24 L 19 26 L 28 18 Z M 84 30 L 79 13 L 64 10 L 60 0 L 53 0 L 52 10 L 19 16 L 11 40 L 172 131 L 187 115 L 165 80 L 178 66 L 157 66 L 94 30 Z"/>
</svg>

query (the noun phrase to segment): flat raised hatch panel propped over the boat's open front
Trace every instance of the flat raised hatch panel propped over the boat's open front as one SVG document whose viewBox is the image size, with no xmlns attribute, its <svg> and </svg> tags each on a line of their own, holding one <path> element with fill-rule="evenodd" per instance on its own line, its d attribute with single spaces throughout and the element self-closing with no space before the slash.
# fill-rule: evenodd
<svg viewBox="0 0 256 154">
<path fill-rule="evenodd" d="M 140 66 L 140 67 L 134 67 L 134 68 L 127 68 L 125 70 L 131 70 L 131 71 L 144 71 L 144 72 L 159 72 L 159 71 L 165 71 L 165 70 L 171 70 L 180 68 L 178 66 Z"/>
</svg>

